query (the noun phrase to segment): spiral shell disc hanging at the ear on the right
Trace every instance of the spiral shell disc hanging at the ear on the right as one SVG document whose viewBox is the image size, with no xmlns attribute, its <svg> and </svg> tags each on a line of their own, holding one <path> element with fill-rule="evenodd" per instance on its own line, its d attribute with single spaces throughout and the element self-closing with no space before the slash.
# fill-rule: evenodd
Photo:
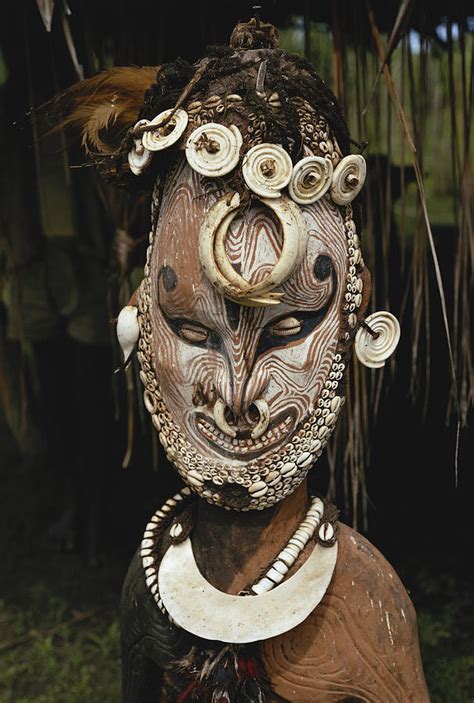
<svg viewBox="0 0 474 703">
<path fill-rule="evenodd" d="M 365 324 L 355 338 L 357 358 L 364 366 L 379 369 L 397 348 L 400 323 L 390 312 L 380 311 L 369 315 Z"/>
</svg>

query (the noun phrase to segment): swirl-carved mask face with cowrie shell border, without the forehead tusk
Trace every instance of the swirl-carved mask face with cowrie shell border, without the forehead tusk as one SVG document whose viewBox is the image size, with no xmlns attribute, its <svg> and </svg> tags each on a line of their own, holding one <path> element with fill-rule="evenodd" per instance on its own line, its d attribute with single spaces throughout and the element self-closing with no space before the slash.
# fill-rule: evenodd
<svg viewBox="0 0 474 703">
<path fill-rule="evenodd" d="M 225 193 L 184 160 L 168 178 L 140 291 L 139 358 L 147 408 L 183 479 L 210 502 L 261 509 L 303 480 L 337 419 L 362 290 L 358 242 L 350 208 L 301 206 L 308 245 L 282 302 L 239 305 L 198 256 L 201 223 Z M 279 258 L 280 224 L 253 199 L 225 246 L 240 275 L 261 281 Z"/>
</svg>

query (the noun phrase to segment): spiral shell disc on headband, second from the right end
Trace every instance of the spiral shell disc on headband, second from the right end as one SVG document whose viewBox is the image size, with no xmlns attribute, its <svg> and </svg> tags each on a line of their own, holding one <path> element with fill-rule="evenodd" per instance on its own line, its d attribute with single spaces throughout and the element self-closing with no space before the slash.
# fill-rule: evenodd
<svg viewBox="0 0 474 703">
<path fill-rule="evenodd" d="M 332 182 L 333 165 L 321 156 L 306 156 L 293 169 L 288 187 L 292 199 L 300 205 L 310 205 L 323 197 Z"/>
</svg>

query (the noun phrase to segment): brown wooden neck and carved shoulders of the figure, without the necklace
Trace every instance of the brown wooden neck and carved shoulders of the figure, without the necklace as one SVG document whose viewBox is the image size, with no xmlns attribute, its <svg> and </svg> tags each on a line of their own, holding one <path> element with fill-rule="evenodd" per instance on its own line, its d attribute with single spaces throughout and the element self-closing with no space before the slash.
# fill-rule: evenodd
<svg viewBox="0 0 474 703">
<path fill-rule="evenodd" d="M 216 588 L 239 593 L 287 542 L 306 501 L 302 485 L 277 508 L 244 516 L 202 502 L 193 530 L 202 573 Z M 272 688 L 267 700 L 429 701 L 416 616 L 400 579 L 351 528 L 340 526 L 338 544 L 331 584 L 314 612 L 298 627 L 262 644 Z M 308 551 L 301 554 L 301 562 Z M 138 553 L 124 585 L 122 624 L 123 700 L 177 700 L 163 694 L 163 680 L 192 642 L 156 607 Z"/>
</svg>

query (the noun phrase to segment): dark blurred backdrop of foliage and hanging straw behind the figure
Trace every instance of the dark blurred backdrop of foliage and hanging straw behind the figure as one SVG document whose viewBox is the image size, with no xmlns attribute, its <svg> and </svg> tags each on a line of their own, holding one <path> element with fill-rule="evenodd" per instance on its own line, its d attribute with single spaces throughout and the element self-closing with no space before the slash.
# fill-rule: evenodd
<svg viewBox="0 0 474 703">
<path fill-rule="evenodd" d="M 114 374 L 115 320 L 141 280 L 149 207 L 101 182 L 80 141 L 50 134 L 34 110 L 112 66 L 194 61 L 254 10 L 4 0 L 0 13 L 0 702 L 112 703 L 121 583 L 177 485 L 137 367 Z M 400 573 L 432 700 L 474 701 L 474 8 L 268 0 L 260 14 L 367 142 L 371 310 L 402 325 L 383 370 L 353 362 L 313 487 Z"/>
</svg>

